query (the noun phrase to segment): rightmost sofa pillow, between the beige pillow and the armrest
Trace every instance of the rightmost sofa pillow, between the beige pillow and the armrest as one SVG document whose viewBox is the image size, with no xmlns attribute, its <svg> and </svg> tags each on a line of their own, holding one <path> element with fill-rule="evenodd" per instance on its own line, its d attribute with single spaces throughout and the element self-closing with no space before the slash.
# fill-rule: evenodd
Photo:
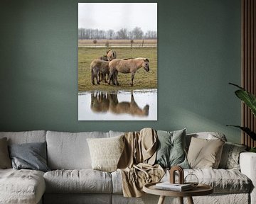
<svg viewBox="0 0 256 204">
<path fill-rule="evenodd" d="M 231 142 L 225 142 L 220 159 L 220 169 L 240 170 L 239 154 L 245 151 L 245 145 L 238 145 Z"/>
</svg>

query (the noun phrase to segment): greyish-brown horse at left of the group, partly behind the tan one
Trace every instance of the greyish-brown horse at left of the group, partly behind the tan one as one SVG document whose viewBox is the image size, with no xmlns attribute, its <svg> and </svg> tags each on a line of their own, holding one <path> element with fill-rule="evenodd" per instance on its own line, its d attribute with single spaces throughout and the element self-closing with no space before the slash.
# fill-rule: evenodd
<svg viewBox="0 0 256 204">
<path fill-rule="evenodd" d="M 90 70 L 91 70 L 92 84 L 95 85 L 95 78 L 96 78 L 97 84 L 100 84 L 100 73 L 110 74 L 109 61 L 99 60 L 99 59 L 93 60 L 90 64 Z M 106 79 L 105 79 L 105 82 L 107 83 Z"/>
</svg>

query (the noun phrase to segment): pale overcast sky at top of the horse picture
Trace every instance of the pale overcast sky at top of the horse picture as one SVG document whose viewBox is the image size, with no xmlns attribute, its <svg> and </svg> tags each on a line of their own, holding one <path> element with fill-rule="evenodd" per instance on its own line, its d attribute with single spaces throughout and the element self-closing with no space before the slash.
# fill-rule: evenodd
<svg viewBox="0 0 256 204">
<path fill-rule="evenodd" d="M 78 28 L 157 30 L 156 3 L 78 3 Z"/>
</svg>

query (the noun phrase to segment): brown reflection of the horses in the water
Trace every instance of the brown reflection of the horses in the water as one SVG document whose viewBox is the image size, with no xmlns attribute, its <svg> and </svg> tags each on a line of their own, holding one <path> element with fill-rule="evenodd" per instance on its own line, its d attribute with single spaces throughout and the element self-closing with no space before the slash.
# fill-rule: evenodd
<svg viewBox="0 0 256 204">
<path fill-rule="evenodd" d="M 130 102 L 119 102 L 117 94 L 92 93 L 90 108 L 95 113 L 111 112 L 114 114 L 126 113 L 134 116 L 149 115 L 149 105 L 144 106 L 144 108 L 139 108 L 137 103 L 134 101 L 133 94 L 131 94 Z"/>
</svg>

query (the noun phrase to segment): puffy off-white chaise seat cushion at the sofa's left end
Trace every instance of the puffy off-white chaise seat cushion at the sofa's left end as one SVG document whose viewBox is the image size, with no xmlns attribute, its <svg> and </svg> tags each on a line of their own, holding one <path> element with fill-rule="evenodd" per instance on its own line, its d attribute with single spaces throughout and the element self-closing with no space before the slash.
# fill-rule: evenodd
<svg viewBox="0 0 256 204">
<path fill-rule="evenodd" d="M 0 169 L 0 203 L 38 203 L 45 190 L 43 171 Z"/>
</svg>

